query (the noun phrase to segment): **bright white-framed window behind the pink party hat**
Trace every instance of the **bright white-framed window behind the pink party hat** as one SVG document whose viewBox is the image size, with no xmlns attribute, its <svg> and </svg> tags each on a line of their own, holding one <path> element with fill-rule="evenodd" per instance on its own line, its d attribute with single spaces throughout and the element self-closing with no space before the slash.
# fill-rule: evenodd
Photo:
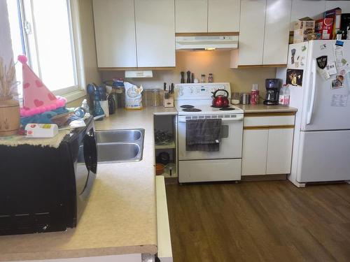
<svg viewBox="0 0 350 262">
<path fill-rule="evenodd" d="M 7 5 L 14 59 L 25 54 L 31 69 L 57 95 L 84 86 L 76 0 L 7 0 Z M 22 68 L 16 69 L 22 81 Z"/>
</svg>

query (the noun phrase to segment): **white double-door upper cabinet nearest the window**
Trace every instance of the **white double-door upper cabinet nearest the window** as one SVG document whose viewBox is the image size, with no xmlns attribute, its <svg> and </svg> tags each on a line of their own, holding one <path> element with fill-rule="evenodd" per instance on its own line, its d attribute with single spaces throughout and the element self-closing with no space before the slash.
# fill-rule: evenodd
<svg viewBox="0 0 350 262">
<path fill-rule="evenodd" d="M 93 0 L 93 8 L 99 68 L 175 66 L 174 0 Z"/>
</svg>

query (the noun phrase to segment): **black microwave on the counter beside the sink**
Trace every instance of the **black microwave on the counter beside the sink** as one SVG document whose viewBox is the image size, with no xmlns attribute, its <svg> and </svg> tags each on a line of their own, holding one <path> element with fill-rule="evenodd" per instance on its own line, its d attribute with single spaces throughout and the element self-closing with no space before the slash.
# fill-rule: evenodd
<svg viewBox="0 0 350 262">
<path fill-rule="evenodd" d="M 83 214 L 97 173 L 94 120 L 58 148 L 0 146 L 0 235 L 65 231 Z"/>
</svg>

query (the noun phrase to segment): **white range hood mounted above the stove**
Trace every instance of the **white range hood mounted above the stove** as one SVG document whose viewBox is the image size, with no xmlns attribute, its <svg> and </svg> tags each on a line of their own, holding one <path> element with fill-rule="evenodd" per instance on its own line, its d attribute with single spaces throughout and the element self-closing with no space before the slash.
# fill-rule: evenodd
<svg viewBox="0 0 350 262">
<path fill-rule="evenodd" d="M 238 36 L 176 36 L 176 50 L 237 49 Z"/>
</svg>

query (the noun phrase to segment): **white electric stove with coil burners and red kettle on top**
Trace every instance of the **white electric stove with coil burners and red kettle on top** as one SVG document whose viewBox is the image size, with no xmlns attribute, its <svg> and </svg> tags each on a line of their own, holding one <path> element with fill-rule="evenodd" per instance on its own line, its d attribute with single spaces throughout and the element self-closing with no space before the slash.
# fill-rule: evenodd
<svg viewBox="0 0 350 262">
<path fill-rule="evenodd" d="M 211 96 L 217 89 L 231 93 L 230 83 L 175 85 L 174 102 L 179 112 L 179 182 L 241 179 L 243 110 L 234 105 L 213 108 Z M 186 121 L 218 118 L 222 121 L 219 151 L 186 151 Z"/>
</svg>

